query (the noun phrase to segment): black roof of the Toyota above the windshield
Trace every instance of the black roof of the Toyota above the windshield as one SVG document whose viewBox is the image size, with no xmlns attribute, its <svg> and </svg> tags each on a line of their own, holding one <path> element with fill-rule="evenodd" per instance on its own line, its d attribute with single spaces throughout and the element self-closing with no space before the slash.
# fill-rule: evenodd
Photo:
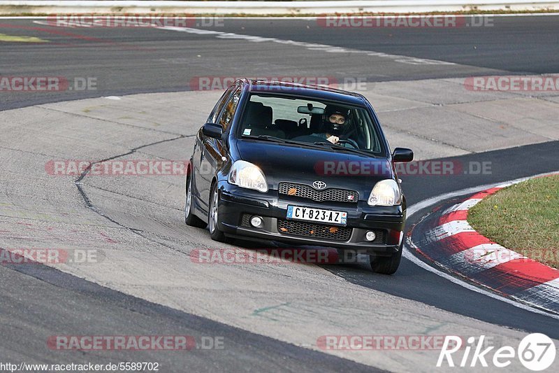
<svg viewBox="0 0 559 373">
<path fill-rule="evenodd" d="M 346 104 L 359 106 L 364 105 L 366 102 L 365 98 L 361 94 L 337 90 L 335 88 L 321 85 L 282 82 L 279 80 L 240 80 L 248 86 L 249 92 L 291 94 L 293 96 L 301 96 L 305 98 L 341 101 Z"/>
</svg>

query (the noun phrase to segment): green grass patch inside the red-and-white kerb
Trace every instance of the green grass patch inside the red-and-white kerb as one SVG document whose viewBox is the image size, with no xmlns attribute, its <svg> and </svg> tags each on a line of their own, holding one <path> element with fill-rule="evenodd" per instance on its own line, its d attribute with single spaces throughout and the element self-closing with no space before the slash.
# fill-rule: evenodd
<svg viewBox="0 0 559 373">
<path fill-rule="evenodd" d="M 559 176 L 499 190 L 470 209 L 467 220 L 497 244 L 559 268 Z"/>
</svg>

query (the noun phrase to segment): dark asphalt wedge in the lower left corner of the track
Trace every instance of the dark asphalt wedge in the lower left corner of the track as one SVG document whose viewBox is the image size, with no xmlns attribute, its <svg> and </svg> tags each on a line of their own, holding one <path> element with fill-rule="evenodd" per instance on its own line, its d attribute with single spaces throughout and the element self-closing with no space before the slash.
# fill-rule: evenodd
<svg viewBox="0 0 559 373">
<path fill-rule="evenodd" d="M 216 335 L 227 346 L 218 354 L 202 350 L 85 352 L 79 360 L 103 365 L 108 361 L 161 362 L 162 372 L 184 372 L 185 368 L 194 372 L 383 372 L 123 295 L 42 265 L 1 267 L 0 279 L 25 290 L 24 295 L 7 286 L 0 290 L 3 362 L 75 361 L 75 351 L 53 354 L 46 349 L 48 337 L 57 330 L 73 331 L 73 335 L 84 335 L 84 330 L 95 330 L 88 335 L 113 335 L 126 328 L 130 335 L 188 335 L 198 344 L 203 336 Z"/>
</svg>

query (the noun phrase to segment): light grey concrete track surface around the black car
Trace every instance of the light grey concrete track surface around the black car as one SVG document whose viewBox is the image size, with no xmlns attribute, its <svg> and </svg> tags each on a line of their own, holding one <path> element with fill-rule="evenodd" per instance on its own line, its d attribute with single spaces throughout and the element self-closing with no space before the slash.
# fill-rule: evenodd
<svg viewBox="0 0 559 373">
<path fill-rule="evenodd" d="M 96 260 L 53 267 L 393 372 L 430 372 L 440 349 L 347 353 L 321 349 L 317 341 L 324 335 L 491 335 L 500 346 L 518 345 L 525 332 L 363 288 L 318 266 L 196 263 L 195 249 L 233 246 L 184 225 L 182 175 L 86 176 L 79 181 L 82 195 L 76 176 L 48 174 L 53 160 L 188 160 L 193 136 L 221 94 L 137 94 L 0 112 L 0 247 L 95 250 Z M 391 146 L 414 149 L 416 159 L 559 139 L 558 92 L 477 92 L 463 79 L 440 79 L 371 83 L 363 94 Z M 513 360 L 508 369 L 523 367 Z"/>
</svg>

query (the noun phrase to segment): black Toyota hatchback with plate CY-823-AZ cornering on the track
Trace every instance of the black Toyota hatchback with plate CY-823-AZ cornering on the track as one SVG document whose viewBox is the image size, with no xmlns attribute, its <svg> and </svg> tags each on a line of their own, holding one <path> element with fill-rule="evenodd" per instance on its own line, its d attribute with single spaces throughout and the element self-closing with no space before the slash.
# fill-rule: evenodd
<svg viewBox="0 0 559 373">
<path fill-rule="evenodd" d="M 393 153 L 361 94 L 240 79 L 196 135 L 185 221 L 217 241 L 273 240 L 367 253 L 393 274 L 406 201 Z"/>
</svg>

